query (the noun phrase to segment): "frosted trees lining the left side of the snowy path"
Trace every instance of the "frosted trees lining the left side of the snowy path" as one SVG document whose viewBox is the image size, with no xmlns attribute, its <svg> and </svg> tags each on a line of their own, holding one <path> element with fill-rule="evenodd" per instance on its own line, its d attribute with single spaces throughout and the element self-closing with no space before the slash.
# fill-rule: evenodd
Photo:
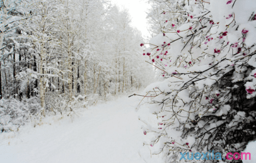
<svg viewBox="0 0 256 163">
<path fill-rule="evenodd" d="M 6 0 L 0 9 L 2 116 L 18 110 L 10 100 L 33 99 L 45 115 L 74 99 L 106 100 L 149 81 L 141 33 L 108 1 Z"/>
</svg>

